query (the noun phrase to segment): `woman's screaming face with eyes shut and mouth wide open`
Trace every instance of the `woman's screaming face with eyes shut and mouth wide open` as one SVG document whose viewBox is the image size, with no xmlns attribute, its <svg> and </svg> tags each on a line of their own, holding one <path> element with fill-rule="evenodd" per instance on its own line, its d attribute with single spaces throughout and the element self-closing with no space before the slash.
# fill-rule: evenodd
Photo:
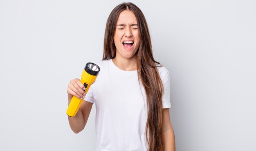
<svg viewBox="0 0 256 151">
<path fill-rule="evenodd" d="M 132 11 L 120 13 L 115 29 L 116 57 L 132 58 L 139 48 L 140 38 L 136 17 Z"/>
</svg>

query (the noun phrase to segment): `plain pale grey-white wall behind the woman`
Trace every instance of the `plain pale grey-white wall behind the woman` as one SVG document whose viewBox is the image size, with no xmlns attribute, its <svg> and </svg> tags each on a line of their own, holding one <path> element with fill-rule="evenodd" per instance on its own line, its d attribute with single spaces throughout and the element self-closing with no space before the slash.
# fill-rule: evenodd
<svg viewBox="0 0 256 151">
<path fill-rule="evenodd" d="M 73 133 L 66 89 L 101 60 L 106 20 L 121 2 L 0 0 L 0 151 L 94 150 L 95 107 Z M 134 3 L 170 72 L 177 151 L 255 151 L 256 2 Z"/>
</svg>

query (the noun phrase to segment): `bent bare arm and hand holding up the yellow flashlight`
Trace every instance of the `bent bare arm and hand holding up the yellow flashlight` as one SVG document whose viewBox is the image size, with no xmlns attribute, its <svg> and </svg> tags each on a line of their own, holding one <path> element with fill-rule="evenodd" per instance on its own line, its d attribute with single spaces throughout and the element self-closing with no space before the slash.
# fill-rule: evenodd
<svg viewBox="0 0 256 151">
<path fill-rule="evenodd" d="M 76 96 L 77 98 L 81 98 L 81 99 L 85 98 L 85 93 L 83 89 L 84 89 L 84 86 L 79 79 L 71 80 L 70 84 L 67 87 L 68 104 L 70 103 L 73 95 Z M 74 133 L 79 133 L 84 129 L 85 124 L 90 115 L 91 109 L 92 109 L 92 103 L 83 101 L 76 115 L 74 117 L 68 116 L 70 128 L 72 129 L 72 131 L 74 131 Z"/>
</svg>

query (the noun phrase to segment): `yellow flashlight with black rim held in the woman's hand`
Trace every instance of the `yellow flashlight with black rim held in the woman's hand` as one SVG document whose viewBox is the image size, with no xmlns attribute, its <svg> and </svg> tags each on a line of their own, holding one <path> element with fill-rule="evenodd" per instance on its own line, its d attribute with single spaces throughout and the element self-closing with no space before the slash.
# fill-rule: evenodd
<svg viewBox="0 0 256 151">
<path fill-rule="evenodd" d="M 88 62 L 85 65 L 85 68 L 81 76 L 81 82 L 85 86 L 85 93 L 88 92 L 92 83 L 95 82 L 97 76 L 99 75 L 100 70 L 101 69 L 99 68 L 99 66 L 97 66 L 97 64 Z M 76 98 L 75 96 L 73 96 L 67 108 L 67 115 L 74 117 L 78 109 L 80 108 L 82 102 L 83 102 L 82 99 Z"/>
</svg>

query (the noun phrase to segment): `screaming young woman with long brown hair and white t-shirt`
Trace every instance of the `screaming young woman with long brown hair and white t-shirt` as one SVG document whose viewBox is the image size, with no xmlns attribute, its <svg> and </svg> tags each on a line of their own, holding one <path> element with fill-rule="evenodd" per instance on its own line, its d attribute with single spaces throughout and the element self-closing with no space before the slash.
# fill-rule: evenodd
<svg viewBox="0 0 256 151">
<path fill-rule="evenodd" d="M 96 105 L 97 151 L 175 151 L 169 117 L 167 69 L 155 61 L 146 19 L 132 3 L 119 4 L 108 17 L 97 82 L 85 96 L 79 79 L 70 81 L 68 100 L 85 98 L 68 117 L 79 133 Z"/>
</svg>

